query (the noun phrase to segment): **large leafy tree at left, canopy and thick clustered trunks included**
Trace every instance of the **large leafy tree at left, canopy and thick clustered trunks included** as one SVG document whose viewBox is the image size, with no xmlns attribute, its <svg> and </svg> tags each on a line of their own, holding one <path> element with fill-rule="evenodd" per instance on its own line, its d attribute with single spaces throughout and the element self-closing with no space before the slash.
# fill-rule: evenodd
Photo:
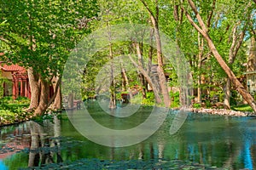
<svg viewBox="0 0 256 170">
<path fill-rule="evenodd" d="M 0 37 L 9 44 L 6 61 L 27 68 L 32 99 L 30 110 L 40 115 L 55 101 L 60 109 L 63 65 L 88 22 L 95 18 L 96 1 L 1 1 Z M 88 19 L 90 18 L 90 19 Z M 49 99 L 49 86 L 55 89 Z M 57 104 L 58 103 L 58 104 Z"/>
</svg>

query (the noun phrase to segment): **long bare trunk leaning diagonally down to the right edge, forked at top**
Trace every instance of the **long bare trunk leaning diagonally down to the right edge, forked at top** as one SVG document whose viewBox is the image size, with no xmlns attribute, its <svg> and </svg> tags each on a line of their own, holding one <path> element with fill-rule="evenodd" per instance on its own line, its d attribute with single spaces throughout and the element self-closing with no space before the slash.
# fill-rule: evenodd
<svg viewBox="0 0 256 170">
<path fill-rule="evenodd" d="M 230 67 L 225 63 L 225 61 L 221 57 L 221 55 L 218 54 L 218 50 L 215 47 L 214 43 L 212 42 L 211 37 L 208 35 L 207 28 L 206 28 L 203 20 L 201 19 L 201 16 L 198 13 L 197 8 L 195 7 L 195 4 L 192 2 L 192 0 L 188 0 L 188 1 L 189 1 L 190 7 L 193 9 L 193 11 L 195 13 L 195 16 L 196 16 L 196 18 L 197 18 L 201 28 L 195 24 L 194 20 L 191 18 L 189 13 L 186 12 L 186 16 L 187 16 L 189 22 L 192 24 L 192 26 L 195 27 L 195 29 L 197 31 L 199 31 L 201 33 L 201 35 L 203 37 L 205 37 L 205 39 L 207 40 L 207 43 L 208 43 L 208 47 L 211 49 L 212 54 L 215 57 L 215 59 L 217 59 L 218 64 L 223 68 L 223 70 L 225 71 L 227 76 L 230 78 L 230 81 L 233 83 L 233 85 L 236 88 L 236 90 L 238 91 L 238 93 L 241 94 L 243 99 L 245 99 L 247 101 L 247 103 L 252 107 L 253 111 L 256 112 L 256 104 L 255 104 L 255 101 L 254 101 L 253 97 L 241 85 L 241 82 L 239 82 L 237 80 L 237 78 L 236 78 L 235 74 L 233 73 L 233 71 L 230 70 Z"/>
</svg>

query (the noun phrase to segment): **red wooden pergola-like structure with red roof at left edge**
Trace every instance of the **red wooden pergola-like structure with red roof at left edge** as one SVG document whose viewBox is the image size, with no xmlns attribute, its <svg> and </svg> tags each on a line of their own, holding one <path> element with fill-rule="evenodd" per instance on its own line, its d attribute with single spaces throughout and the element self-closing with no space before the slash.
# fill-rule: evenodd
<svg viewBox="0 0 256 170">
<path fill-rule="evenodd" d="M 12 95 L 13 99 L 19 96 L 31 98 L 26 69 L 20 65 L 0 65 L 2 77 L 8 79 L 8 82 L 3 83 L 3 96 Z"/>
</svg>

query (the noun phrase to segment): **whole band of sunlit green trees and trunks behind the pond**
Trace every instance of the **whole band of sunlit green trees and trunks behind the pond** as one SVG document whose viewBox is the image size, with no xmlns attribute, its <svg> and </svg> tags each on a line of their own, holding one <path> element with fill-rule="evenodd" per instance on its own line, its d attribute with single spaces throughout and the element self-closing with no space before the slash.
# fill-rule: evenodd
<svg viewBox="0 0 256 170">
<path fill-rule="evenodd" d="M 34 116 L 60 110 L 61 96 L 71 93 L 83 100 L 107 96 L 112 109 L 129 99 L 172 108 L 250 105 L 256 111 L 255 82 L 247 81 L 247 75 L 255 74 L 254 1 L 12 0 L 1 1 L 0 16 L 1 63 L 26 68 L 31 88 L 26 111 Z M 130 33 L 137 35 L 125 36 L 137 39 L 84 41 L 114 28 L 119 30 L 113 36 L 125 37 L 122 25 L 133 26 L 136 31 Z M 79 50 L 81 42 L 84 51 L 96 52 L 78 71 L 80 80 L 65 78 L 68 58 L 86 53 Z M 110 70 L 102 73 L 106 65 Z M 67 90 L 61 92 L 63 84 Z M 72 87 L 79 90 L 68 90 Z"/>
</svg>

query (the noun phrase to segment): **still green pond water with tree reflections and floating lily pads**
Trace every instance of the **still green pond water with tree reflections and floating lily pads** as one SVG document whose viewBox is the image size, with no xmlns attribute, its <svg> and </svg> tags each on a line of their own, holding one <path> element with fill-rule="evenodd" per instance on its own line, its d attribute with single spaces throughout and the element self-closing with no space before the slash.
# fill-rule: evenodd
<svg viewBox="0 0 256 170">
<path fill-rule="evenodd" d="M 141 107 L 136 114 L 125 118 L 109 116 L 95 103 L 90 103 L 87 109 L 103 126 L 127 129 L 142 123 L 152 108 Z M 171 111 L 160 129 L 148 139 L 119 148 L 102 146 L 84 138 L 65 113 L 61 120 L 55 117 L 55 123 L 24 122 L 1 127 L 0 169 L 13 170 L 28 165 L 45 169 L 256 167 L 255 118 L 189 113 L 177 133 L 170 135 L 175 114 L 177 112 Z"/>
</svg>

